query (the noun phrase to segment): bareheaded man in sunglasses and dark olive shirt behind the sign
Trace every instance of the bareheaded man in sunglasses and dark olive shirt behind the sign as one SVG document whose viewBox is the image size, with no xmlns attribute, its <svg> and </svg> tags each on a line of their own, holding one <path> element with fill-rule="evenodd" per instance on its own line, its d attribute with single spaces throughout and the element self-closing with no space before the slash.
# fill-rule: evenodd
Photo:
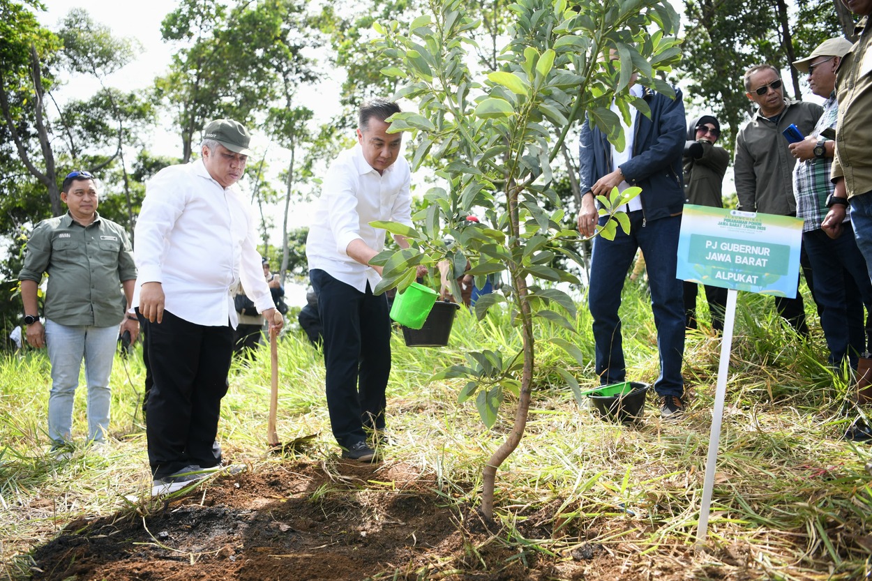
<svg viewBox="0 0 872 581">
<path fill-rule="evenodd" d="M 772 65 L 754 65 L 748 69 L 745 90 L 747 98 L 757 108 L 736 137 L 733 171 L 739 209 L 796 215 L 793 180 L 796 160 L 782 132 L 793 124 L 803 135 L 812 133 L 823 109 L 814 103 L 785 99 L 779 71 Z M 811 268 L 807 266 L 804 251 L 800 262 L 814 296 Z M 796 332 L 808 337 L 805 305 L 799 292 L 795 298 L 775 297 L 775 308 Z"/>
</svg>

